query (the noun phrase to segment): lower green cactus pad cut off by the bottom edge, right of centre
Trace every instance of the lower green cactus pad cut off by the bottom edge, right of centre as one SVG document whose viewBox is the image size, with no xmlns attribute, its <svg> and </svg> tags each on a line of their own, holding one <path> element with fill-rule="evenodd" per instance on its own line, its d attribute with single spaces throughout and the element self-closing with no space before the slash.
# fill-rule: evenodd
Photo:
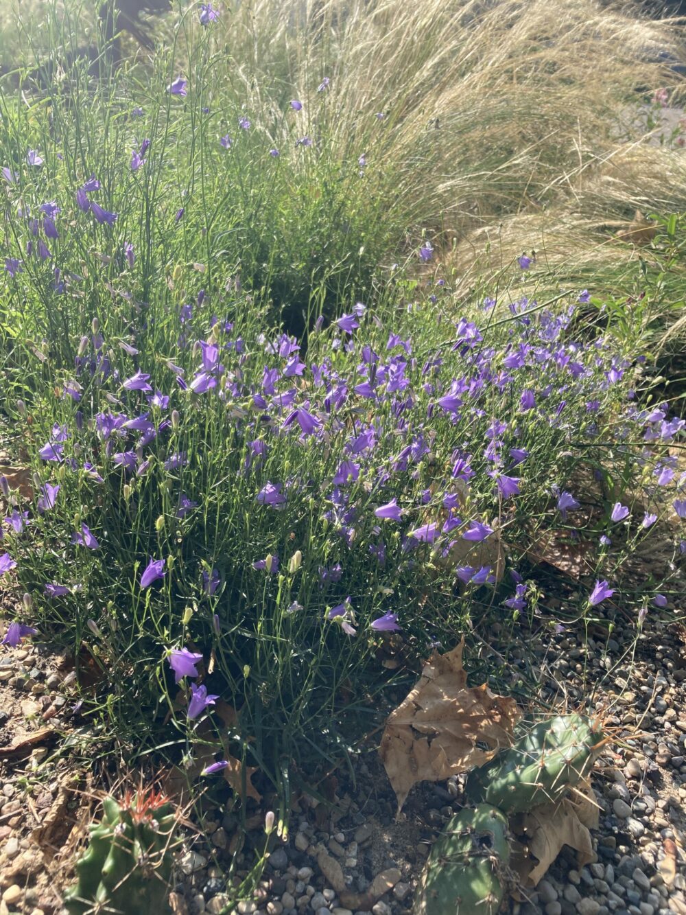
<svg viewBox="0 0 686 915">
<path fill-rule="evenodd" d="M 414 915 L 495 915 L 508 863 L 508 823 L 499 810 L 479 804 L 457 813 L 431 850 Z"/>
</svg>

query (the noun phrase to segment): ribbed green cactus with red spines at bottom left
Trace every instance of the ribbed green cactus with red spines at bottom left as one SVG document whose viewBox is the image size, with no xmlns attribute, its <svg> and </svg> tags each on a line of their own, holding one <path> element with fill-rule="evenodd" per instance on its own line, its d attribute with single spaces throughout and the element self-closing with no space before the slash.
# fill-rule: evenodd
<svg viewBox="0 0 686 915">
<path fill-rule="evenodd" d="M 102 803 L 102 822 L 76 865 L 78 882 L 64 905 L 70 915 L 99 912 L 166 915 L 176 818 L 163 795 L 127 792 L 123 802 Z"/>
</svg>

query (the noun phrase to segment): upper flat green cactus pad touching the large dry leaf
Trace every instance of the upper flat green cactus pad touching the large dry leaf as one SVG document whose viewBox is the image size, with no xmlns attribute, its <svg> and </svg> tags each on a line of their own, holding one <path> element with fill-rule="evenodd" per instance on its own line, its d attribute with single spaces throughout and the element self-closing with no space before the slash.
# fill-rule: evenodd
<svg viewBox="0 0 686 915">
<path fill-rule="evenodd" d="M 560 800 L 586 778 L 603 744 L 599 724 L 584 715 L 556 716 L 528 727 L 509 749 L 466 780 L 466 795 L 503 813 L 530 811 Z"/>
</svg>

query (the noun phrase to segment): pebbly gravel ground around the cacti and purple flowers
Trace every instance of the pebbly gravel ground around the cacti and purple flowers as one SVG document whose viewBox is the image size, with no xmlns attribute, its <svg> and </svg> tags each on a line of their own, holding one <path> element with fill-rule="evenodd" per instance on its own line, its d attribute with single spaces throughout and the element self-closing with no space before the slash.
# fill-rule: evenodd
<svg viewBox="0 0 686 915">
<path fill-rule="evenodd" d="M 666 612 L 676 619 L 681 609 Z M 607 612 L 612 621 L 617 610 Z M 595 765 L 596 862 L 579 869 L 565 846 L 529 898 L 510 903 L 514 913 L 686 915 L 686 629 L 648 619 L 634 646 L 634 630 L 621 620 L 619 614 L 610 638 L 588 636 L 585 643 L 583 630 L 552 635 L 541 626 L 522 633 L 520 647 L 509 652 L 513 684 L 523 671 L 538 671 L 542 700 L 564 700 L 569 709 L 590 694 L 589 710 L 604 716 L 616 737 Z M 49 752 L 58 732 L 79 736 L 73 683 L 73 673 L 40 646 L 6 650 L 0 660 L 0 915 L 59 913 L 55 888 L 70 881 L 73 850 L 95 809 L 83 788 L 85 770 L 70 770 L 64 757 L 51 761 Z M 34 745 L 8 752 L 37 732 L 43 736 Z M 411 909 L 431 843 L 461 809 L 461 781 L 419 785 L 396 820 L 375 749 L 361 753 L 354 768 L 354 780 L 339 774 L 332 782 L 333 808 L 301 800 L 289 841 L 273 847 L 256 899 L 240 903 L 238 915 Z M 251 845 L 263 847 L 263 811 L 252 813 L 254 832 L 235 878 L 252 862 Z M 180 857 L 172 896 L 177 915 L 226 910 L 222 875 L 235 824 L 224 808 L 206 804 Z"/>
</svg>

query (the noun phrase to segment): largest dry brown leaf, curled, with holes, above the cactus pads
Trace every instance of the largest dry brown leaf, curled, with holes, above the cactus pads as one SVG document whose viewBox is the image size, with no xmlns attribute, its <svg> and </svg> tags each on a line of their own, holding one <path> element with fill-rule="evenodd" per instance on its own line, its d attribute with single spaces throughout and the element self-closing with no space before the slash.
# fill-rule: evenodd
<svg viewBox="0 0 686 915">
<path fill-rule="evenodd" d="M 467 687 L 463 638 L 434 653 L 412 692 L 388 717 L 379 749 L 398 812 L 417 781 L 439 781 L 481 766 L 512 743 L 520 712 L 514 699 Z M 485 745 L 481 748 L 478 744 Z"/>
</svg>

